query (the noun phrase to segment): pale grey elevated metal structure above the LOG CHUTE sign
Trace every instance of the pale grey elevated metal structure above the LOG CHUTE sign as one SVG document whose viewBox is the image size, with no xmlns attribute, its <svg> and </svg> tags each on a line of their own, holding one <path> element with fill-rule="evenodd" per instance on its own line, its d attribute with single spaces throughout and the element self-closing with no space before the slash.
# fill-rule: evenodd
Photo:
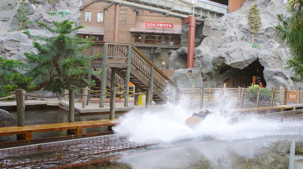
<svg viewBox="0 0 303 169">
<path fill-rule="evenodd" d="M 204 22 L 203 18 L 206 17 L 219 18 L 228 13 L 227 5 L 209 0 L 96 0 L 95 2 L 119 4 L 181 19 L 196 16 L 197 22 Z"/>
</svg>

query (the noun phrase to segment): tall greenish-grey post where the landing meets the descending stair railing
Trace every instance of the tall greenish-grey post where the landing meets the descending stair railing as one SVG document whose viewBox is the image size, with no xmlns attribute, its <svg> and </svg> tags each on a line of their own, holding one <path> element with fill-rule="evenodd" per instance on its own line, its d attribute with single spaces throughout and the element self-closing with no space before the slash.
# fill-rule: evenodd
<svg viewBox="0 0 303 169">
<path fill-rule="evenodd" d="M 124 107 L 128 107 L 129 78 L 131 75 L 131 59 L 132 59 L 132 46 L 128 46 L 127 47 L 127 60 L 126 60 L 126 64 L 128 65 L 128 68 L 126 68 L 126 73 L 125 73 Z"/>
</svg>

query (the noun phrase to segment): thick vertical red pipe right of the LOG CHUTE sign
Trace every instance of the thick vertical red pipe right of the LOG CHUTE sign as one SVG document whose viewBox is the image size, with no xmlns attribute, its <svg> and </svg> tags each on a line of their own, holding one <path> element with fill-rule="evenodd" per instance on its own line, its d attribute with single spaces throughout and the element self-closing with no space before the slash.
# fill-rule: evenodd
<svg viewBox="0 0 303 169">
<path fill-rule="evenodd" d="M 196 17 L 188 17 L 188 52 L 187 52 L 187 68 L 194 67 L 194 49 L 195 49 L 195 31 Z"/>
</svg>

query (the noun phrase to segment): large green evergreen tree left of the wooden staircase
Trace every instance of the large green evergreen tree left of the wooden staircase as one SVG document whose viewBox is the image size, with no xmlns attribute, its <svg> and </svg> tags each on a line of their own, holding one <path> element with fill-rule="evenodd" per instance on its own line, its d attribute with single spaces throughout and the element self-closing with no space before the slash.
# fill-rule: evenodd
<svg viewBox="0 0 303 169">
<path fill-rule="evenodd" d="M 96 75 L 100 71 L 93 71 L 89 65 L 89 61 L 99 56 L 84 56 L 81 50 L 88 48 L 94 42 L 89 41 L 94 38 L 78 38 L 76 35 L 68 36 L 73 31 L 83 28 L 77 26 L 72 28 L 72 24 L 68 20 L 57 22 L 53 21 L 55 28 L 52 28 L 45 22 L 38 22 L 39 25 L 45 27 L 49 32 L 58 34 L 57 36 L 45 38 L 32 35 L 29 31 L 25 31 L 26 35 L 32 36 L 44 44 L 33 42 L 34 48 L 38 54 L 24 53 L 28 58 L 28 71 L 26 75 L 33 77 L 28 83 L 29 90 L 39 90 L 44 88 L 47 91 L 62 92 L 62 89 L 84 88 L 86 86 L 95 85 L 95 81 L 85 78 L 87 74 Z"/>
</svg>

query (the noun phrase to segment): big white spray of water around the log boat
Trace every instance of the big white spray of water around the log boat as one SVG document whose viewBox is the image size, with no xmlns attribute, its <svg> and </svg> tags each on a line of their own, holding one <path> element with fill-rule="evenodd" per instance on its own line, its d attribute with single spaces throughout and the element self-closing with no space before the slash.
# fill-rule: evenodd
<svg viewBox="0 0 303 169">
<path fill-rule="evenodd" d="M 202 120 L 196 128 L 189 128 L 185 120 L 192 115 L 193 110 L 183 106 L 188 102 L 180 101 L 178 105 L 165 104 L 160 109 L 145 111 L 130 111 L 121 118 L 119 124 L 113 127 L 116 134 L 127 136 L 129 141 L 144 141 L 158 139 L 171 141 L 177 136 L 198 134 L 212 136 L 221 140 L 253 139 L 264 136 L 298 134 L 303 130 L 301 122 L 278 123 L 260 120 L 254 115 L 241 116 L 236 123 L 235 98 L 228 97 L 227 92 L 217 92 L 216 107 L 210 108 L 213 112 Z M 222 114 L 225 111 L 225 114 Z M 226 113 L 227 112 L 227 113 Z"/>
</svg>

